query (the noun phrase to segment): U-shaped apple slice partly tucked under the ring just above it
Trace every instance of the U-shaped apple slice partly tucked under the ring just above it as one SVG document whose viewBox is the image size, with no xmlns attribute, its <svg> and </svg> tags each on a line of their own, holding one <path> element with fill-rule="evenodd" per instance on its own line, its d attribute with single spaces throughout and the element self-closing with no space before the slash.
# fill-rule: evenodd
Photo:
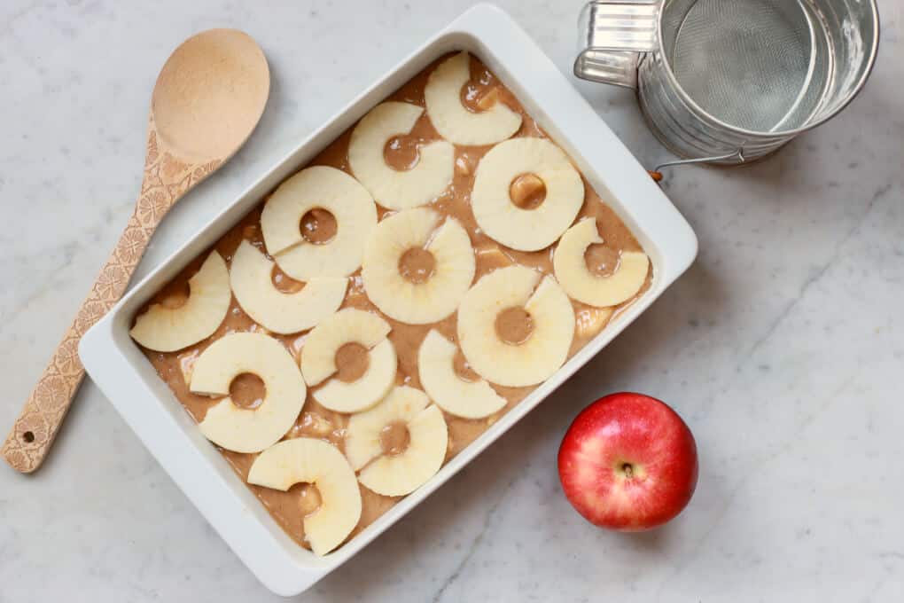
<svg viewBox="0 0 904 603">
<path fill-rule="evenodd" d="M 279 334 L 298 333 L 332 316 L 345 297 L 346 277 L 317 277 L 296 293 L 273 285 L 274 264 L 247 240 L 232 256 L 230 284 L 239 305 L 259 325 Z"/>
</svg>

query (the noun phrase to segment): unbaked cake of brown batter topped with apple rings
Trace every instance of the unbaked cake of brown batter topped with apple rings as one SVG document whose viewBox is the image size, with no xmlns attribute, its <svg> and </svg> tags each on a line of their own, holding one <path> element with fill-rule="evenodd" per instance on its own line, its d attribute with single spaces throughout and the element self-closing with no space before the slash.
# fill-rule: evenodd
<svg viewBox="0 0 904 603">
<path fill-rule="evenodd" d="M 651 276 L 568 155 L 458 52 L 280 184 L 131 334 L 274 519 L 325 554 Z"/>
</svg>

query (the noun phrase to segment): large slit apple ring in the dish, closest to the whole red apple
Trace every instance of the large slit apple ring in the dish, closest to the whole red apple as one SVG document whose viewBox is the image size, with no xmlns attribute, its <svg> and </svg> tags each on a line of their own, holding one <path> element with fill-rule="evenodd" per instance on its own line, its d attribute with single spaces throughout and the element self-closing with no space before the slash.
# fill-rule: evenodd
<svg viewBox="0 0 904 603">
<path fill-rule="evenodd" d="M 539 283 L 539 286 L 538 286 Z M 523 308 L 532 331 L 520 344 L 503 340 L 498 316 Z M 508 387 L 540 383 L 568 358 L 574 310 L 555 278 L 515 264 L 477 281 L 458 308 L 458 344 L 471 368 L 489 382 Z"/>
</svg>

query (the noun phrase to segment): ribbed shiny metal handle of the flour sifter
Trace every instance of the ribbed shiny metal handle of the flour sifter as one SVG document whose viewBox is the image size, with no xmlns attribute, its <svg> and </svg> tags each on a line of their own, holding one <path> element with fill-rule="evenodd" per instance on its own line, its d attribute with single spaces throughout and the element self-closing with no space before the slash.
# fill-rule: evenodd
<svg viewBox="0 0 904 603">
<path fill-rule="evenodd" d="M 582 80 L 637 88 L 637 66 L 656 50 L 659 0 L 595 0 L 578 21 L 580 51 L 574 74 Z"/>
</svg>

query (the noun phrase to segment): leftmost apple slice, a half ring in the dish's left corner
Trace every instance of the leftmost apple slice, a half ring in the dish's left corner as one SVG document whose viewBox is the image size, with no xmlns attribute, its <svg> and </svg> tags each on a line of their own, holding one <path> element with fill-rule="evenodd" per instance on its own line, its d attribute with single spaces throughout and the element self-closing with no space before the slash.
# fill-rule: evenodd
<svg viewBox="0 0 904 603">
<path fill-rule="evenodd" d="M 175 352 L 210 337 L 223 322 L 232 294 L 229 270 L 220 254 L 212 251 L 188 281 L 189 296 L 182 306 L 154 304 L 138 316 L 129 331 L 148 350 Z"/>
</svg>

